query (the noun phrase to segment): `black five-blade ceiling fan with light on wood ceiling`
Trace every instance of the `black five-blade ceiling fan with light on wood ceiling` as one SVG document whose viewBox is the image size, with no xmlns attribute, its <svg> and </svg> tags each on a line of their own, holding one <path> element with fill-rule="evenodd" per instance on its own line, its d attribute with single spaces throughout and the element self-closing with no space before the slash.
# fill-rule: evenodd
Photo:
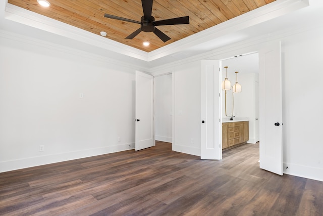
<svg viewBox="0 0 323 216">
<path fill-rule="evenodd" d="M 140 22 L 136 21 L 136 20 L 131 20 L 131 19 L 123 18 L 123 17 L 110 15 L 110 14 L 104 14 L 104 17 L 140 24 L 140 28 L 138 28 L 136 31 L 134 31 L 129 36 L 127 36 L 126 39 L 132 39 L 137 34 L 139 34 L 141 31 L 144 31 L 144 32 L 153 32 L 155 35 L 157 35 L 164 42 L 166 42 L 167 40 L 169 40 L 171 38 L 169 36 L 167 36 L 165 33 L 161 32 L 155 26 L 181 25 L 181 24 L 189 24 L 190 23 L 188 16 L 155 21 L 155 18 L 153 16 L 151 16 L 152 2 L 153 2 L 153 0 L 141 0 L 143 16 L 141 17 Z"/>
</svg>

